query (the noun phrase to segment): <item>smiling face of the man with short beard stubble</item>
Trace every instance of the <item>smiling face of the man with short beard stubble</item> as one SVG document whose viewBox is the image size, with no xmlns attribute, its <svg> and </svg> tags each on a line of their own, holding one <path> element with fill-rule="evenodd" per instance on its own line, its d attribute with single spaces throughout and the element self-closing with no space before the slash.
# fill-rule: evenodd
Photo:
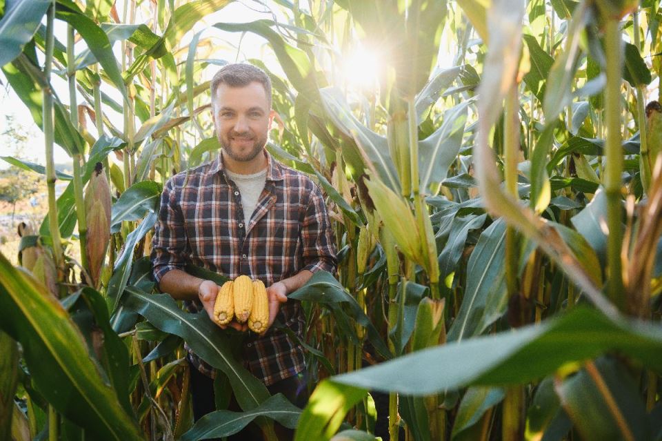
<svg viewBox="0 0 662 441">
<path fill-rule="evenodd" d="M 221 84 L 212 97 L 214 127 L 219 142 L 234 161 L 251 161 L 267 144 L 273 112 L 262 84 L 244 87 Z"/>
</svg>

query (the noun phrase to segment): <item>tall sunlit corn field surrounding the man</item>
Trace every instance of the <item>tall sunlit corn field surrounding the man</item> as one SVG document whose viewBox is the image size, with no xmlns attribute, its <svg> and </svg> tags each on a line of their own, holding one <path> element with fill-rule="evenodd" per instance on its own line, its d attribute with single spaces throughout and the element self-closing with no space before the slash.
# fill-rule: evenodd
<svg viewBox="0 0 662 441">
<path fill-rule="evenodd" d="M 660 3 L 232 3 L 0 0 L 0 79 L 46 139 L 46 164 L 3 159 L 49 202 L 20 266 L 0 254 L 0 440 L 662 440 Z M 337 274 L 290 295 L 305 409 L 152 280 L 163 184 L 217 157 L 205 72 L 234 61 L 270 76 L 266 148 L 334 228 Z M 184 342 L 241 412 L 193 421 Z"/>
</svg>

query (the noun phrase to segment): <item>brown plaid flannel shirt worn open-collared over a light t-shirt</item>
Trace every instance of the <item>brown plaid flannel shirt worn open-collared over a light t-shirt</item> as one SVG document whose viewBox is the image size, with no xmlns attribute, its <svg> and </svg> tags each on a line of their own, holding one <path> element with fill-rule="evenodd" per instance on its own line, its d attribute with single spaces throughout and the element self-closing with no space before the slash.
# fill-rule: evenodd
<svg viewBox="0 0 662 441">
<path fill-rule="evenodd" d="M 265 286 L 303 269 L 334 271 L 332 231 L 321 191 L 303 173 L 265 155 L 265 188 L 248 225 L 244 225 L 241 193 L 223 172 L 220 155 L 168 179 L 152 239 L 157 283 L 168 271 L 183 270 L 188 262 L 231 279 L 248 275 Z M 197 300 L 185 306 L 192 313 L 203 310 Z M 277 318 L 303 339 L 300 302 L 283 304 Z M 214 369 L 187 349 L 199 371 L 213 378 Z M 250 333 L 243 358 L 266 385 L 305 368 L 301 346 L 274 329 L 262 337 Z"/>
</svg>

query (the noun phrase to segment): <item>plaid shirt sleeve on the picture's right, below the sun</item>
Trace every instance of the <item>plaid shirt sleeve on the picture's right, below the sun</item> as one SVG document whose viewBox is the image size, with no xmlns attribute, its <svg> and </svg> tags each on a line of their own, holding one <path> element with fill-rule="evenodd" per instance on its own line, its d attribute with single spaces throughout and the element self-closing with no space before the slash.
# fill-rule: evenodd
<svg viewBox="0 0 662 441">
<path fill-rule="evenodd" d="M 305 265 L 303 269 L 312 273 L 335 271 L 337 259 L 331 223 L 322 193 L 314 184 L 301 226 L 301 240 Z"/>
</svg>

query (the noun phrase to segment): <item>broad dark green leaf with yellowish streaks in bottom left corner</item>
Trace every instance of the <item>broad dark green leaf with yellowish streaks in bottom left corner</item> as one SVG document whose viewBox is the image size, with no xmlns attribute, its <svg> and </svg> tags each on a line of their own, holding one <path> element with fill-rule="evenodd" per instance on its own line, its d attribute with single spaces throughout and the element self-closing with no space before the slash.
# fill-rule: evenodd
<svg viewBox="0 0 662 441">
<path fill-rule="evenodd" d="M 23 346 L 23 357 L 39 391 L 66 418 L 97 440 L 141 440 L 92 361 L 88 346 L 64 308 L 47 289 L 12 268 L 0 255 L 0 327 Z"/>
</svg>

